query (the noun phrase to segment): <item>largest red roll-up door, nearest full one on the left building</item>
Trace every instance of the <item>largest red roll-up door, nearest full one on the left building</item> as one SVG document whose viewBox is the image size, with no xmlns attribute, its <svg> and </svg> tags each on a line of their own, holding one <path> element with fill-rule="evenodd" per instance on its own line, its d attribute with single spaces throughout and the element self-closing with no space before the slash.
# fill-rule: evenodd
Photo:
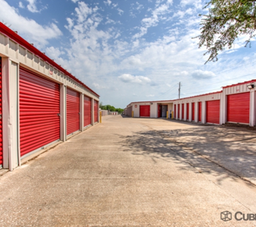
<svg viewBox="0 0 256 227">
<path fill-rule="evenodd" d="M 19 68 L 20 156 L 60 138 L 59 84 Z"/>
</svg>

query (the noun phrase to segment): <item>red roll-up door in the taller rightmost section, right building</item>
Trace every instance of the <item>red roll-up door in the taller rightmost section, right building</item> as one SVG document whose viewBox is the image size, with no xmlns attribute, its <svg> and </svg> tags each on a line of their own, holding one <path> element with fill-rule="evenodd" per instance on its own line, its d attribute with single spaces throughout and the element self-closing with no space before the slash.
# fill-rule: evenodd
<svg viewBox="0 0 256 227">
<path fill-rule="evenodd" d="M 250 92 L 227 95 L 227 122 L 250 123 Z"/>
</svg>

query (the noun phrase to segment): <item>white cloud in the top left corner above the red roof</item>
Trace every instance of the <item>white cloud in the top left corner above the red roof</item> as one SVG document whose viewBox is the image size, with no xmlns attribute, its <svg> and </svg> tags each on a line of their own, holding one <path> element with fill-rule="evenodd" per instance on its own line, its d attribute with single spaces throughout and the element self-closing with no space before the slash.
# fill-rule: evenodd
<svg viewBox="0 0 256 227">
<path fill-rule="evenodd" d="M 18 10 L 11 7 L 4 0 L 0 0 L 0 5 L 1 19 L 11 24 L 12 30 L 18 31 L 24 38 L 36 44 L 37 47 L 46 45 L 47 40 L 58 38 L 62 34 L 56 24 L 39 25 L 32 19 L 20 16 Z"/>
</svg>

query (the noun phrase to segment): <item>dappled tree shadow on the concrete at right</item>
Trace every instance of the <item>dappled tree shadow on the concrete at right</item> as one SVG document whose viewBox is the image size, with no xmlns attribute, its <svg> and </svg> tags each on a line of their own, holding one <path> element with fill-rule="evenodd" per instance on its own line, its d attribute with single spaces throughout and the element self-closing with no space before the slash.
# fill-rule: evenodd
<svg viewBox="0 0 256 227">
<path fill-rule="evenodd" d="M 124 151 L 134 155 L 190 165 L 225 178 L 247 178 L 256 184 L 256 134 L 225 127 L 195 127 L 184 130 L 151 130 L 122 136 Z M 170 160 L 171 159 L 171 160 Z M 213 164 L 213 162 L 215 164 Z M 217 165 L 216 165 L 217 164 Z M 231 171 L 224 174 L 225 169 Z"/>
</svg>

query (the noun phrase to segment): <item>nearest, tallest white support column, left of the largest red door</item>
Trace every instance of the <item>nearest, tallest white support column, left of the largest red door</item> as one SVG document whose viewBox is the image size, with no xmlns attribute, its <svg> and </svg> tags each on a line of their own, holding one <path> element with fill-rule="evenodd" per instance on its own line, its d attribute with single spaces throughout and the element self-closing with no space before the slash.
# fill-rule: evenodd
<svg viewBox="0 0 256 227">
<path fill-rule="evenodd" d="M 3 168 L 20 165 L 18 63 L 2 58 Z"/>
</svg>

